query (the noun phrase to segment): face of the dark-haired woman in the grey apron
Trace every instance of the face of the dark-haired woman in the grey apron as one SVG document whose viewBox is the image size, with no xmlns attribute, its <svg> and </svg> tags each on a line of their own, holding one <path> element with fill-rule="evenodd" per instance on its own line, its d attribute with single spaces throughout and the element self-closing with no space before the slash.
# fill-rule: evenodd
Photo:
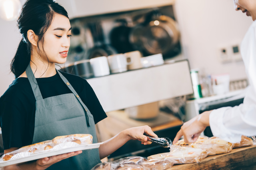
<svg viewBox="0 0 256 170">
<path fill-rule="evenodd" d="M 52 24 L 44 34 L 43 47 L 50 63 L 63 64 L 66 62 L 70 36 L 71 26 L 69 19 L 66 16 L 55 14 Z"/>
</svg>

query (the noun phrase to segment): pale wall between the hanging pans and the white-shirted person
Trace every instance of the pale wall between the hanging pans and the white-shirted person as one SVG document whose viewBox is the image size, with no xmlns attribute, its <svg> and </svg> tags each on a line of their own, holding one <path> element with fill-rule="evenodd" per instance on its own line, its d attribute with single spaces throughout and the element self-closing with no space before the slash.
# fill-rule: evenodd
<svg viewBox="0 0 256 170">
<path fill-rule="evenodd" d="M 246 78 L 243 62 L 222 64 L 217 48 L 241 42 L 252 18 L 235 11 L 233 0 L 176 0 L 184 55 L 192 69 L 209 74 L 229 73 L 231 80 Z"/>
</svg>

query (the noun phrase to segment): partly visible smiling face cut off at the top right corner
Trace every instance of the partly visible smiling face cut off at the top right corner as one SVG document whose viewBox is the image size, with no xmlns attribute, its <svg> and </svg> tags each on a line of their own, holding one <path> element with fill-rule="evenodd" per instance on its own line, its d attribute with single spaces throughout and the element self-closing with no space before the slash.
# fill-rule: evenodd
<svg viewBox="0 0 256 170">
<path fill-rule="evenodd" d="M 256 0 L 234 0 L 234 7 L 256 20 Z"/>
</svg>

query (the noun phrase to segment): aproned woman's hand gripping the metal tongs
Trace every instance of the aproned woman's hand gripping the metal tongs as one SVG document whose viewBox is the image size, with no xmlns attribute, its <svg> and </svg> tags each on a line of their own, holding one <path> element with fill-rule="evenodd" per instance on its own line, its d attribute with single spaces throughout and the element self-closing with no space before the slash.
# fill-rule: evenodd
<svg viewBox="0 0 256 170">
<path fill-rule="evenodd" d="M 151 130 L 149 126 L 139 126 L 130 129 L 124 130 L 128 140 L 139 140 L 141 144 L 147 145 L 151 144 L 152 142 L 148 141 L 148 137 L 144 134 L 148 134 L 149 136 L 158 137 L 154 132 Z"/>
</svg>

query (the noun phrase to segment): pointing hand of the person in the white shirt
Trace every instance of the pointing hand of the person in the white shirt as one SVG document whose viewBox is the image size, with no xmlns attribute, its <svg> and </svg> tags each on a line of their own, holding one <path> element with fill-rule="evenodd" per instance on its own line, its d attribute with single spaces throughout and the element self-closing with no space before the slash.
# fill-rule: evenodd
<svg viewBox="0 0 256 170">
<path fill-rule="evenodd" d="M 198 136 L 205 130 L 209 124 L 209 116 L 211 111 L 206 111 L 198 116 L 192 118 L 188 122 L 184 123 L 180 131 L 176 134 L 173 140 L 173 144 L 178 142 L 181 136 L 184 136 L 185 143 L 196 142 Z"/>
</svg>

